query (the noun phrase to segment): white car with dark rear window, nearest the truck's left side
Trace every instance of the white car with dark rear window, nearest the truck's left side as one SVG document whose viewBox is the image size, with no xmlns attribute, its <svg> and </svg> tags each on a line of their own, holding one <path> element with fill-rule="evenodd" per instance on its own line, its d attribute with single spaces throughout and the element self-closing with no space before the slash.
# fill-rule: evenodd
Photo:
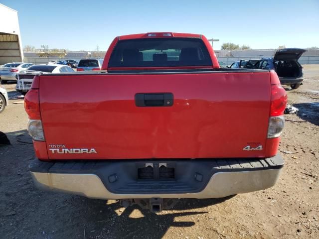
<svg viewBox="0 0 319 239">
<path fill-rule="evenodd" d="M 38 74 L 75 72 L 71 67 L 65 65 L 33 65 L 16 75 L 15 90 L 25 95 L 31 88 L 33 77 Z"/>
</svg>

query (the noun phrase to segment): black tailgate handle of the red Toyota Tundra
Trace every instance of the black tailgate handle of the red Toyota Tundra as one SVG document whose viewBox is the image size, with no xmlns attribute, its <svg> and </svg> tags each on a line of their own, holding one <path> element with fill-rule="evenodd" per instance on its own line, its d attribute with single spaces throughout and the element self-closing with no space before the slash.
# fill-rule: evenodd
<svg viewBox="0 0 319 239">
<path fill-rule="evenodd" d="M 173 94 L 171 93 L 138 93 L 135 95 L 137 107 L 172 106 Z"/>
</svg>

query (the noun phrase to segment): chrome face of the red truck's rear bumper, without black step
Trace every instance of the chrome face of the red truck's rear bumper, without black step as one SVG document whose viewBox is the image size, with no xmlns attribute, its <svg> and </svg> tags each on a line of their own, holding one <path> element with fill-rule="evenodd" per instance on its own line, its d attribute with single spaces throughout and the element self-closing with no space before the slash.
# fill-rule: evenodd
<svg viewBox="0 0 319 239">
<path fill-rule="evenodd" d="M 81 195 L 95 199 L 140 198 L 223 198 L 249 193 L 274 186 L 281 169 L 247 172 L 221 172 L 214 174 L 207 186 L 198 193 L 169 194 L 114 194 L 108 191 L 94 174 L 59 174 L 31 172 L 34 184 L 41 190 Z"/>
</svg>

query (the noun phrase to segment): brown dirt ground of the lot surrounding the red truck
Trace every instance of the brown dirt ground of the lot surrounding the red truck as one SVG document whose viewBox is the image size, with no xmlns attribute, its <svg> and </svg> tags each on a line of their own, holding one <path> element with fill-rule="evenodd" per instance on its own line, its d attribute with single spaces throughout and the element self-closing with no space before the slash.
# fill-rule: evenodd
<svg viewBox="0 0 319 239">
<path fill-rule="evenodd" d="M 319 65 L 305 65 L 304 85 L 285 87 L 298 115 L 285 115 L 280 151 L 285 167 L 270 189 L 225 199 L 181 200 L 153 214 L 115 201 L 37 190 L 28 173 L 34 158 L 21 100 L 0 114 L 0 238 L 319 238 Z M 10 97 L 14 84 L 4 85 Z M 18 104 L 13 104 L 18 103 Z"/>
</svg>

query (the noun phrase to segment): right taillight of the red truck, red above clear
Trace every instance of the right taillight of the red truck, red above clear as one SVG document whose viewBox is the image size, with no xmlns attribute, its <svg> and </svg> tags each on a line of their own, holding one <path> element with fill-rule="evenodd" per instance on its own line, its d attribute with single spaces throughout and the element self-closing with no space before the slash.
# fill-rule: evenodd
<svg viewBox="0 0 319 239">
<path fill-rule="evenodd" d="M 286 105 L 287 92 L 285 89 L 280 84 L 271 85 L 270 118 L 267 138 L 277 138 L 281 135 L 285 126 L 283 115 Z"/>
</svg>

